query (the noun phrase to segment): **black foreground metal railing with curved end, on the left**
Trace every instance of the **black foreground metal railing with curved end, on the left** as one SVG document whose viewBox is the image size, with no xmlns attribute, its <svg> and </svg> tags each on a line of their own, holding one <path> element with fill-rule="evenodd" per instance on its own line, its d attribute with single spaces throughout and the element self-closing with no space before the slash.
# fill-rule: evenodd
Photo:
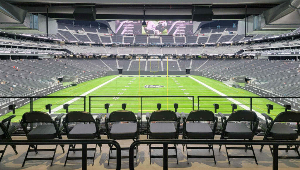
<svg viewBox="0 0 300 170">
<path fill-rule="evenodd" d="M 87 169 L 87 145 L 109 144 L 116 147 L 116 170 L 121 169 L 121 146 L 113 139 L 63 139 L 63 140 L 0 140 L 0 145 L 82 145 L 82 170 Z"/>
</svg>

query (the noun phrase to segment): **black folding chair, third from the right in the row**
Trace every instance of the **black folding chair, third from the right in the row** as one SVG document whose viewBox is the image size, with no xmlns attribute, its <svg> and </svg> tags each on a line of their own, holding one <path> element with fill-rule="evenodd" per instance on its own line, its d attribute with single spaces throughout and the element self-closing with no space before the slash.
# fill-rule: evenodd
<svg viewBox="0 0 300 170">
<path fill-rule="evenodd" d="M 214 139 L 214 133 L 218 125 L 218 118 L 214 115 L 212 111 L 209 110 L 193 110 L 189 113 L 187 118 L 182 114 L 183 121 L 183 134 L 182 139 Z M 198 122 L 194 122 L 198 121 Z M 203 123 L 199 121 L 210 121 L 214 123 L 213 129 L 208 125 L 208 123 Z M 208 149 L 212 150 L 210 156 L 207 155 L 188 155 L 187 153 L 187 164 L 188 158 L 214 158 L 214 163 L 216 164 L 216 159 L 214 157 L 213 145 L 208 145 L 208 147 L 188 147 L 186 149 Z M 184 146 L 183 146 L 184 150 Z"/>
</svg>

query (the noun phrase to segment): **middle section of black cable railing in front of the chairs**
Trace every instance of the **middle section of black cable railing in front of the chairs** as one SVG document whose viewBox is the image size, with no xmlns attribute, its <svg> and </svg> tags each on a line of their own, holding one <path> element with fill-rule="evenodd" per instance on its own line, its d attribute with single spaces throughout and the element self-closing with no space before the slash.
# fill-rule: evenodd
<svg viewBox="0 0 300 170">
<path fill-rule="evenodd" d="M 110 110 L 122 110 L 121 104 L 126 103 L 126 110 L 141 113 L 141 131 L 143 131 L 143 115 L 157 110 L 157 103 L 161 109 L 174 110 L 174 103 L 179 104 L 180 112 L 189 113 L 194 110 L 194 96 L 88 96 L 90 113 L 107 113 L 104 104 L 109 103 Z M 158 100 L 159 99 L 159 100 Z"/>
</svg>

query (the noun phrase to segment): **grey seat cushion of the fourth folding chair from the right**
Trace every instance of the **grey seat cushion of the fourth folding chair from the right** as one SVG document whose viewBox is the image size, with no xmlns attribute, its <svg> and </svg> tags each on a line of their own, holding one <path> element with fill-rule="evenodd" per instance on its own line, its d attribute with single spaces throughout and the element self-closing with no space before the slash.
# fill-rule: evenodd
<svg viewBox="0 0 300 170">
<path fill-rule="evenodd" d="M 176 139 L 176 129 L 173 123 L 151 123 L 151 138 Z"/>
</svg>

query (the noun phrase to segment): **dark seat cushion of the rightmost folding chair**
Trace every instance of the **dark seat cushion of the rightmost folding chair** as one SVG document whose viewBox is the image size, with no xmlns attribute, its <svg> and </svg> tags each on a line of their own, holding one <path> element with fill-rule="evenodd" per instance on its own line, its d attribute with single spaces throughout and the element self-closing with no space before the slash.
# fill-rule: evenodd
<svg viewBox="0 0 300 170">
<path fill-rule="evenodd" d="M 262 124 L 262 130 L 264 130 L 265 132 L 268 130 L 268 127 L 265 123 Z M 295 140 L 298 138 L 298 134 L 297 131 L 293 130 L 289 126 L 285 124 L 276 123 L 273 125 L 268 137 L 272 137 L 274 139 Z"/>
</svg>

